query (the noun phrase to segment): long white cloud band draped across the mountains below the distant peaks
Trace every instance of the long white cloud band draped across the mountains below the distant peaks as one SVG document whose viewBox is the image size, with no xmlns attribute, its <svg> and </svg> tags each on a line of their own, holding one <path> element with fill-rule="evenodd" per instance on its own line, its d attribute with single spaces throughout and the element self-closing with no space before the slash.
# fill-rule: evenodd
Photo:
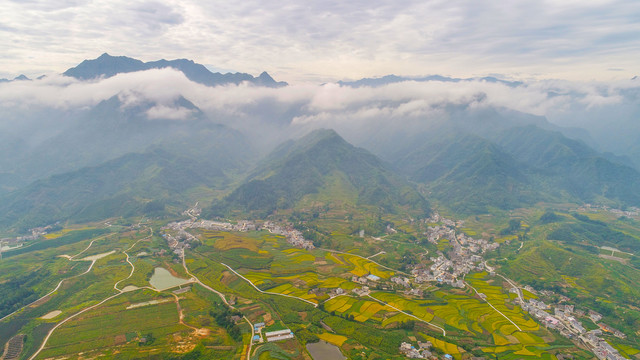
<svg viewBox="0 0 640 360">
<path fill-rule="evenodd" d="M 183 96 L 213 121 L 242 126 L 255 122 L 318 126 L 367 121 L 419 121 L 441 117 L 449 105 L 497 107 L 540 116 L 572 108 L 597 108 L 623 102 L 623 91 L 637 82 L 578 83 L 538 81 L 510 87 L 485 81 L 405 81 L 352 88 L 335 83 L 263 88 L 250 84 L 207 87 L 165 68 L 78 81 L 63 76 L 0 84 L 3 108 L 87 108 L 118 96 L 123 106 L 155 103 L 149 118 L 183 120 L 191 110 L 176 105 Z M 0 120 L 1 121 L 1 120 Z"/>
</svg>

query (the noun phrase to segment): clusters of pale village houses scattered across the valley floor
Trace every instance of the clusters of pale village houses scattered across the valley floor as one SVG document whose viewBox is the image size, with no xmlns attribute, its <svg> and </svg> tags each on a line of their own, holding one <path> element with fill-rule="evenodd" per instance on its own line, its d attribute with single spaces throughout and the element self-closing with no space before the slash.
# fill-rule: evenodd
<svg viewBox="0 0 640 360">
<path fill-rule="evenodd" d="M 304 248 L 307 250 L 315 248 L 311 241 L 306 240 L 299 230 L 294 229 L 290 225 L 281 225 L 272 221 L 258 223 L 250 220 L 240 220 L 234 224 L 213 220 L 198 220 L 197 216 L 199 215 L 199 211 L 197 211 L 197 209 L 190 209 L 185 212 L 185 215 L 189 215 L 191 218 L 189 220 L 169 223 L 163 228 L 165 230 L 172 230 L 175 233 L 172 235 L 165 232 L 163 237 L 165 237 L 169 247 L 177 255 L 180 255 L 183 249 L 188 249 L 192 247 L 195 242 L 199 241 L 194 235 L 186 231 L 186 229 L 239 232 L 267 230 L 273 234 L 284 236 L 287 239 L 287 242 L 294 247 Z M 496 275 L 494 269 L 486 264 L 482 255 L 497 249 L 499 247 L 498 243 L 489 242 L 484 239 L 475 239 L 467 236 L 463 232 L 458 232 L 456 231 L 456 228 L 462 225 L 460 221 L 454 222 L 441 217 L 438 213 L 432 215 L 432 217 L 425 220 L 425 222 L 439 224 L 427 227 L 424 233 L 427 240 L 436 245 L 440 241 L 448 240 L 449 245 L 451 246 L 450 250 L 447 251 L 446 254 L 442 251 L 438 251 L 436 253 L 437 256 L 429 257 L 428 261 L 423 258 L 418 263 L 409 265 L 408 270 L 413 278 L 410 276 L 396 275 L 391 277 L 387 282 L 373 274 L 352 276 L 352 282 L 362 285 L 360 288 L 352 290 L 356 296 L 364 297 L 369 295 L 371 287 L 385 290 L 395 287 L 396 290 L 402 291 L 406 295 L 420 297 L 423 295 L 424 291 L 420 284 L 435 282 L 437 284 L 446 284 L 455 288 L 464 288 L 466 286 L 464 277 L 471 272 L 487 270 L 490 275 Z M 588 310 L 588 316 L 595 324 L 598 325 L 599 329 L 587 331 L 582 323 L 577 320 L 577 317 L 584 316 L 587 313 L 584 310 L 576 309 L 573 305 L 566 304 L 566 301 L 569 300 L 568 298 L 560 296 L 563 304 L 556 304 L 553 306 L 536 299 L 529 299 L 528 301 L 525 301 L 522 289 L 515 286 L 515 283 L 512 281 L 506 278 L 505 280 L 513 285 L 510 292 L 514 292 L 518 295 L 514 302 L 520 305 L 524 311 L 529 312 L 545 327 L 559 332 L 560 335 L 568 339 L 581 342 L 586 348 L 591 350 L 598 359 L 626 359 L 602 337 L 603 334 L 607 333 L 619 338 L 625 338 L 625 334 L 600 322 L 602 315 L 592 310 Z M 558 296 L 548 290 L 541 290 L 538 292 L 530 286 L 525 286 L 524 289 L 534 294 L 539 293 L 543 296 Z M 336 288 L 328 295 L 331 298 L 344 294 L 346 294 L 344 289 Z M 479 294 L 480 297 L 482 297 L 482 295 L 483 294 Z M 259 333 L 260 329 L 257 330 Z M 277 341 L 280 336 L 293 336 L 290 333 L 269 335 L 270 336 L 267 336 L 268 341 Z M 261 340 L 262 339 L 259 335 L 258 338 L 255 339 L 255 341 Z M 430 348 L 431 344 L 429 342 L 418 342 L 417 347 L 411 343 L 403 342 L 399 351 L 408 358 L 437 358 L 436 355 L 432 354 Z M 447 357 L 447 355 L 445 355 L 444 358 L 448 359 L 450 356 Z"/>
</svg>

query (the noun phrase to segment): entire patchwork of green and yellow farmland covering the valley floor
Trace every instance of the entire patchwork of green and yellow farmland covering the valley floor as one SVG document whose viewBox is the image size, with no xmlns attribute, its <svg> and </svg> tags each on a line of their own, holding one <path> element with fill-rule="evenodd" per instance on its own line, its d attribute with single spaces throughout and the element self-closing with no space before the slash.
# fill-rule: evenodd
<svg viewBox="0 0 640 360">
<path fill-rule="evenodd" d="M 46 269 L 27 283 L 35 298 L 60 284 L 42 302 L 5 320 L 0 338 L 6 342 L 21 332 L 31 334 L 22 359 L 38 352 L 45 339 L 38 359 L 80 353 L 244 359 L 250 349 L 249 325 L 264 323 L 263 333 L 291 329 L 295 337 L 251 343 L 250 358 L 303 359 L 305 345 L 319 340 L 356 359 L 401 359 L 398 348 L 406 341 L 430 341 L 434 351 L 455 359 L 586 356 L 533 320 L 508 291 L 506 280 L 488 271 L 466 274 L 459 288 L 413 283 L 417 291 L 410 292 L 400 285 L 402 278 L 412 277 L 407 268 L 399 269 L 403 261 L 428 261 L 427 255 L 452 251 L 456 244 L 448 239 L 436 246 L 412 243 L 405 235 L 379 239 L 336 232 L 336 238 L 357 247 L 306 250 L 267 231 L 192 229 L 196 242 L 184 249 L 183 266 L 182 253 L 171 253 L 153 228 L 157 225 L 109 232 L 63 229 L 44 240 L 59 241 L 57 245 L 36 246 L 0 263 L 6 271 L 38 274 Z M 412 227 L 404 224 L 403 229 Z M 464 231 L 480 230 L 474 225 Z M 69 236 L 73 241 L 62 241 Z M 156 269 L 184 280 L 193 274 L 209 288 L 189 283 L 179 294 L 158 291 L 149 283 Z M 2 274 L 0 279 L 9 284 Z M 558 278 L 586 291 L 577 277 Z M 522 295 L 539 298 L 527 290 Z M 242 317 L 232 326 L 218 323 L 216 311 L 231 308 Z M 612 343 L 621 353 L 635 354 L 627 343 Z"/>
</svg>

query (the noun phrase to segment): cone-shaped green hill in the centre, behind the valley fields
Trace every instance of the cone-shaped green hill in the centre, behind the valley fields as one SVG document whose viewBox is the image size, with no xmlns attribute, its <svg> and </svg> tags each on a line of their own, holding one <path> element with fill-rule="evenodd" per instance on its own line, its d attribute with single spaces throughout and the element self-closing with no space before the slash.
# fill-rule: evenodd
<svg viewBox="0 0 640 360">
<path fill-rule="evenodd" d="M 265 216 L 305 203 L 375 207 L 387 213 L 401 208 L 428 212 L 427 202 L 416 190 L 374 155 L 350 145 L 333 130 L 316 130 L 280 146 L 244 184 L 215 202 L 210 212 L 223 215 L 239 210 Z"/>
</svg>

